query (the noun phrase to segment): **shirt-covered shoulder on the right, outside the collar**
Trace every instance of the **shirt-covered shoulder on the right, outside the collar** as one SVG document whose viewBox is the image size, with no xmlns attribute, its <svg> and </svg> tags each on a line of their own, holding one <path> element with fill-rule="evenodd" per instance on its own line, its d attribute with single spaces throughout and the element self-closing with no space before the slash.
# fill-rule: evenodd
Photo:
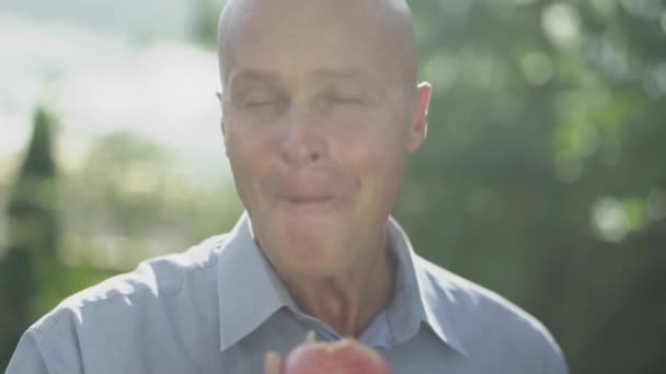
<svg viewBox="0 0 666 374">
<path fill-rule="evenodd" d="M 415 261 L 423 287 L 436 308 L 447 314 L 466 348 L 483 354 L 497 348 L 505 355 L 532 360 L 543 373 L 566 373 L 560 346 L 541 322 L 502 295 L 455 274 L 422 257 Z M 446 311 L 444 311 L 446 309 Z M 537 366 L 537 367 L 535 367 Z M 546 370 L 546 369 L 549 370 Z"/>
</svg>

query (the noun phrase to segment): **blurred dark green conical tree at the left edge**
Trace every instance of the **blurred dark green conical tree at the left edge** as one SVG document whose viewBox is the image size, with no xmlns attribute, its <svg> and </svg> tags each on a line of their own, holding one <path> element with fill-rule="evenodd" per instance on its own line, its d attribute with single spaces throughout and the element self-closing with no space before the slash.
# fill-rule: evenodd
<svg viewBox="0 0 666 374">
<path fill-rule="evenodd" d="M 56 165 L 51 132 L 55 117 L 44 107 L 34 114 L 34 131 L 11 191 L 9 248 L 0 262 L 0 366 L 9 362 L 22 332 L 35 317 L 41 281 L 50 281 L 60 238 Z"/>
</svg>

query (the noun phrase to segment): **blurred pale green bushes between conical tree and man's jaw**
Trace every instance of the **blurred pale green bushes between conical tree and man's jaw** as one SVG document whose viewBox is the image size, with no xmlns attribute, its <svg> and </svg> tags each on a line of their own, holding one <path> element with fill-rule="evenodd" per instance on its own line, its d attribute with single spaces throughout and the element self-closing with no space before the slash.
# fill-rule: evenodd
<svg viewBox="0 0 666 374">
<path fill-rule="evenodd" d="M 125 270 L 229 229 L 241 211 L 231 183 L 190 168 L 133 132 L 94 139 L 62 186 L 69 262 Z"/>
</svg>

